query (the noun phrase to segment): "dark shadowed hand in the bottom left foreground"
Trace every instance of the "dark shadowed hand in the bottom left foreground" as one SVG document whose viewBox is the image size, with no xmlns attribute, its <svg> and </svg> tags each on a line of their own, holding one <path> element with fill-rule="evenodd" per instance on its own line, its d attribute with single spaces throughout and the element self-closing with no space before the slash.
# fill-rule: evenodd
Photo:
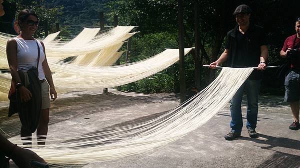
<svg viewBox="0 0 300 168">
<path fill-rule="evenodd" d="M 34 152 L 20 147 L 15 147 L 11 159 L 19 168 L 32 168 L 30 164 L 31 161 L 37 161 L 46 164 L 46 162 Z"/>
</svg>

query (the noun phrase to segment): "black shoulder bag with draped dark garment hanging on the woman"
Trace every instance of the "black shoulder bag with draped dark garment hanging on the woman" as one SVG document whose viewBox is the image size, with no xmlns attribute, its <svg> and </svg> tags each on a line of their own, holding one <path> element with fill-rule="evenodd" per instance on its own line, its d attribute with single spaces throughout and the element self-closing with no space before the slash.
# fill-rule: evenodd
<svg viewBox="0 0 300 168">
<path fill-rule="evenodd" d="M 18 113 L 20 122 L 23 128 L 31 133 L 34 133 L 40 118 L 40 110 L 41 110 L 41 83 L 38 79 L 38 62 L 39 62 L 39 46 L 37 45 L 37 66 L 32 67 L 27 71 L 29 84 L 26 88 L 31 92 L 32 97 L 27 102 L 22 102 L 20 98 L 20 94 L 18 89 L 13 92 L 14 81 L 11 82 L 11 87 L 9 90 L 8 98 L 9 98 L 9 110 L 8 117 L 10 117 L 14 113 Z M 18 71 L 21 82 L 25 84 L 25 75 L 24 72 Z"/>
</svg>

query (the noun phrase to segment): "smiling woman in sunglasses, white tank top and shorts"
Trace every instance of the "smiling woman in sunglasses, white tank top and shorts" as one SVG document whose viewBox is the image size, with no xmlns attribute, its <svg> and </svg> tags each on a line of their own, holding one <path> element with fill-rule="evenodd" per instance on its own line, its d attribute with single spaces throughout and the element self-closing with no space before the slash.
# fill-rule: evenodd
<svg viewBox="0 0 300 168">
<path fill-rule="evenodd" d="M 9 70 L 12 79 L 16 84 L 21 102 L 27 102 L 32 98 L 32 94 L 25 87 L 26 84 L 22 83 L 18 71 L 26 72 L 31 67 L 37 67 L 38 69 L 38 78 L 41 82 L 41 112 L 36 136 L 38 136 L 38 145 L 44 145 L 49 122 L 49 93 L 53 100 L 56 99 L 57 94 L 45 56 L 45 47 L 42 42 L 33 38 L 33 34 L 38 26 L 37 15 L 28 9 L 21 10 L 18 14 L 17 22 L 20 33 L 17 37 L 9 39 L 6 44 Z M 37 61 L 38 55 L 39 61 Z M 31 141 L 31 131 L 25 129 L 23 125 L 21 126 L 20 135 L 21 137 L 30 137 L 26 139 L 22 138 L 22 140 Z M 31 145 L 31 142 L 26 144 Z"/>
</svg>

